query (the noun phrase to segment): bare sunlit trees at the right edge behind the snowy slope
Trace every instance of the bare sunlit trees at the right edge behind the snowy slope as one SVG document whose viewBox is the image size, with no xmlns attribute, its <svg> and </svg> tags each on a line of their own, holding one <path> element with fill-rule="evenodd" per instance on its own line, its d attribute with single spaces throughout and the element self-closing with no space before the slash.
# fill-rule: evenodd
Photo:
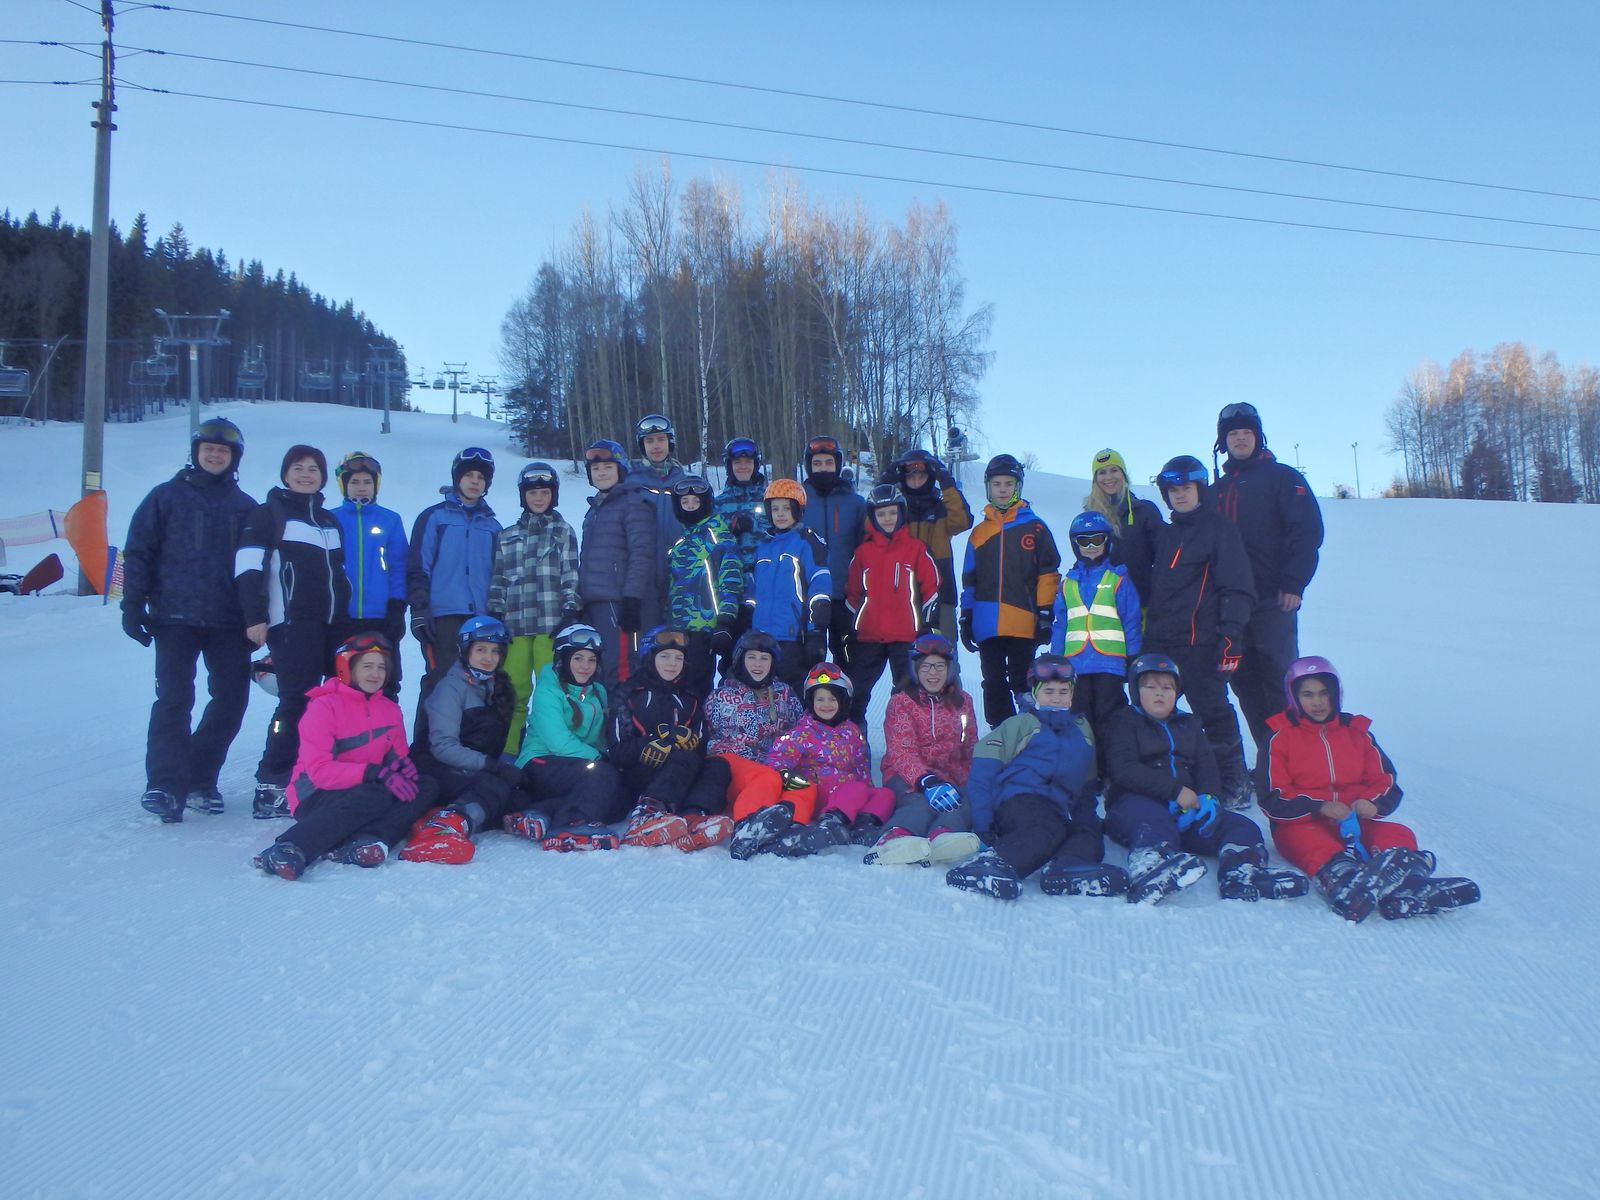
<svg viewBox="0 0 1600 1200">
<path fill-rule="evenodd" d="M 1386 416 L 1405 477 L 1386 494 L 1600 499 L 1600 370 L 1566 370 L 1522 342 L 1424 360 Z"/>
</svg>

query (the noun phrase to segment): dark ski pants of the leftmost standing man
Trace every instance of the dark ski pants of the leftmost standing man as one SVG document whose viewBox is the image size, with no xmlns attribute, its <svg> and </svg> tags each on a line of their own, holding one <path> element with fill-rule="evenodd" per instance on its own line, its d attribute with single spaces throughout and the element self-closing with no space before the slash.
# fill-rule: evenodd
<svg viewBox="0 0 1600 1200">
<path fill-rule="evenodd" d="M 155 626 L 155 704 L 144 742 L 144 786 L 182 800 L 216 787 L 250 704 L 250 642 L 242 629 Z M 190 731 L 195 666 L 205 659 L 206 701 Z"/>
</svg>

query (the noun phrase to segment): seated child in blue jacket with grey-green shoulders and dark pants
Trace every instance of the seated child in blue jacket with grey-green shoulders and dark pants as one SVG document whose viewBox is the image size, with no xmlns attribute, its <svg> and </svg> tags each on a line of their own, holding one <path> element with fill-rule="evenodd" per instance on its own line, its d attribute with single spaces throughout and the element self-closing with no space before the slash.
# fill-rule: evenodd
<svg viewBox="0 0 1600 1200">
<path fill-rule="evenodd" d="M 1022 880 L 1048 862 L 1040 877 L 1046 894 L 1088 894 L 1094 890 L 1082 880 L 1109 874 L 1099 866 L 1106 838 L 1094 805 L 1094 742 L 1088 720 L 1072 712 L 1072 661 L 1040 654 L 1026 683 L 1024 710 L 978 742 L 966 779 L 973 829 L 989 848 L 944 882 L 1016 899 Z"/>
</svg>

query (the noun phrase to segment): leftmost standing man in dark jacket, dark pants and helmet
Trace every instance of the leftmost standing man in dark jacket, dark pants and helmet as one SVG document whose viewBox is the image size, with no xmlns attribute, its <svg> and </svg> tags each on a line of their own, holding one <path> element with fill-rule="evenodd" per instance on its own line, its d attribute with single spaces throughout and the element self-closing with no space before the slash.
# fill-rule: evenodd
<svg viewBox="0 0 1600 1200">
<path fill-rule="evenodd" d="M 256 507 L 238 486 L 243 453 L 238 426 L 203 421 L 189 466 L 144 498 L 123 547 L 122 627 L 139 645 L 155 643 L 141 803 L 162 821 L 182 821 L 186 803 L 222 811 L 218 774 L 250 699 L 250 642 L 234 587 L 234 550 Z M 202 656 L 211 699 L 190 731 Z"/>
</svg>

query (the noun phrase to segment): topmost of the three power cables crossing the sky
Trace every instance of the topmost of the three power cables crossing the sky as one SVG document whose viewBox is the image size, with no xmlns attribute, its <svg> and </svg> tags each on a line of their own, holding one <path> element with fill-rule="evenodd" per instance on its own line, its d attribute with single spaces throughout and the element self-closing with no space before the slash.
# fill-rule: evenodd
<svg viewBox="0 0 1600 1200">
<path fill-rule="evenodd" d="M 560 66 L 560 67 L 578 67 L 581 70 L 608 70 L 608 72 L 614 72 L 614 74 L 619 74 L 619 75 L 638 75 L 642 78 L 659 78 L 659 80 L 669 80 L 669 82 L 674 82 L 674 83 L 694 83 L 694 85 L 709 86 L 709 88 L 734 88 L 734 90 L 739 90 L 739 91 L 757 91 L 757 93 L 765 93 L 765 94 L 770 94 L 770 96 L 787 96 L 790 99 L 811 99 L 811 101 L 824 101 L 824 102 L 829 102 L 829 104 L 853 104 L 853 106 L 867 107 L 867 109 L 880 109 L 880 110 L 885 110 L 885 112 L 906 112 L 906 114 L 914 114 L 914 115 L 918 115 L 918 117 L 941 117 L 941 118 L 946 118 L 946 120 L 978 122 L 978 123 L 982 123 L 982 125 L 1000 125 L 1000 126 L 1014 128 L 1014 130 L 1032 130 L 1032 131 L 1037 131 L 1037 133 L 1064 133 L 1064 134 L 1069 134 L 1069 136 L 1074 136 L 1074 138 L 1101 138 L 1101 139 L 1106 139 L 1106 141 L 1131 142 L 1131 144 L 1136 144 L 1136 146 L 1155 146 L 1155 147 L 1162 147 L 1162 149 L 1168 149 L 1168 150 L 1194 150 L 1194 152 L 1198 152 L 1198 154 L 1218 154 L 1218 155 L 1227 155 L 1227 157 L 1234 157 L 1234 158 L 1254 158 L 1258 162 L 1285 163 L 1285 165 L 1290 165 L 1290 166 L 1312 166 L 1312 168 L 1325 170 L 1325 171 L 1354 171 L 1354 173 L 1358 173 L 1358 174 L 1387 176 L 1390 179 L 1413 179 L 1413 181 L 1418 181 L 1418 182 L 1448 184 L 1451 187 L 1483 187 L 1483 189 L 1490 189 L 1490 190 L 1496 190 L 1496 192 L 1522 192 L 1525 195 L 1546 195 L 1546 197 L 1554 197 L 1554 198 L 1558 198 L 1558 200 L 1587 200 L 1587 202 L 1592 202 L 1592 203 L 1600 203 L 1600 195 L 1584 195 L 1584 194 L 1579 194 L 1579 192 L 1555 192 L 1555 190 L 1546 190 L 1546 189 L 1539 189 L 1539 187 L 1518 187 L 1518 186 L 1514 186 L 1514 184 L 1493 184 L 1493 182 L 1485 182 L 1485 181 L 1478 181 L 1478 179 L 1451 179 L 1448 176 L 1437 176 L 1437 174 L 1416 174 L 1416 173 L 1411 173 L 1411 171 L 1389 171 L 1389 170 L 1382 170 L 1382 168 L 1378 168 L 1378 166 L 1357 166 L 1357 165 L 1352 165 L 1352 163 L 1320 162 L 1317 158 L 1293 158 L 1293 157 L 1278 155 L 1278 154 L 1256 154 L 1256 152 L 1251 152 L 1251 150 L 1230 150 L 1230 149 L 1219 147 L 1219 146 L 1200 146 L 1200 144 L 1194 144 L 1194 142 L 1174 142 L 1174 141 L 1165 141 L 1165 139 L 1160 139 L 1160 138 L 1136 138 L 1136 136 L 1123 134 L 1123 133 L 1106 133 L 1102 130 L 1074 130 L 1074 128 L 1061 126 L 1061 125 L 1043 125 L 1043 123 L 1037 123 L 1037 122 L 1019 122 L 1019 120 L 1010 120 L 1010 118 L 1005 118 L 1005 117 L 986 117 L 986 115 L 979 115 L 979 114 L 950 112 L 950 110 L 944 110 L 944 109 L 925 109 L 925 107 L 918 107 L 918 106 L 914 106 L 914 104 L 894 104 L 894 102 L 890 102 L 890 101 L 870 101 L 870 99 L 861 99 L 858 96 L 830 96 L 827 93 L 819 93 L 819 91 L 797 91 L 797 90 L 792 90 L 792 88 L 774 88 L 774 86 L 760 85 L 760 83 L 738 83 L 738 82 L 733 82 L 733 80 L 702 78 L 699 75 L 675 75 L 675 74 L 664 72 L 664 70 L 645 70 L 642 67 L 618 67 L 618 66 L 613 66 L 613 64 L 608 64 L 608 62 L 582 62 L 579 59 L 552 58 L 549 54 L 528 54 L 528 53 L 515 51 L 515 50 L 494 50 L 494 48 L 485 48 L 485 46 L 467 46 L 467 45 L 459 45 L 459 43 L 453 43 L 453 42 L 430 42 L 427 38 L 400 37 L 398 34 L 374 34 L 371 30 L 363 30 L 363 29 L 334 29 L 331 26 L 312 26 L 312 24 L 306 24 L 306 22 L 301 22 L 301 21 L 278 21 L 275 18 L 245 16 L 242 13 L 218 13 L 218 11 L 213 11 L 210 8 L 189 8 L 186 5 L 155 5 L 155 3 L 152 3 L 152 5 L 147 5 L 147 8 L 155 10 L 155 11 L 162 11 L 162 13 L 189 13 L 192 16 L 211 16 L 211 18 L 219 18 L 219 19 L 226 19 L 226 21 L 248 21 L 248 22 L 262 24 L 262 26 L 277 26 L 280 29 L 299 29 L 299 30 L 312 32 L 312 34 L 336 34 L 339 37 L 360 37 L 360 38 L 370 38 L 370 40 L 374 40 L 374 42 L 392 42 L 392 43 L 405 45 L 405 46 L 422 46 L 426 50 L 448 50 L 448 51 L 461 53 L 461 54 L 485 54 L 485 56 L 491 56 L 491 58 L 518 59 L 522 62 L 546 62 L 546 64 Z"/>
</svg>

